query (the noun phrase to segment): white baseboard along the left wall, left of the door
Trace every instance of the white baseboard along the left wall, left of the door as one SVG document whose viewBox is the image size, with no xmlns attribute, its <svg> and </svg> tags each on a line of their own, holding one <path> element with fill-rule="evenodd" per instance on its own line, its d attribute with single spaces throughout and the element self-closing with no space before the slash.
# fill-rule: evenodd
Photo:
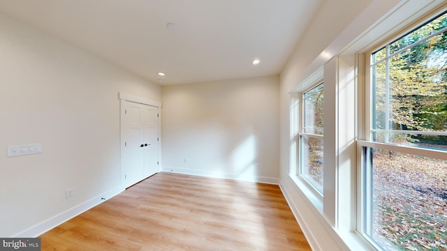
<svg viewBox="0 0 447 251">
<path fill-rule="evenodd" d="M 122 188 L 112 189 L 108 192 L 103 193 L 102 195 L 98 195 L 97 197 L 90 199 L 89 201 L 85 201 L 84 203 L 79 204 L 78 206 L 68 209 L 64 213 L 55 215 L 54 217 L 52 217 L 48 220 L 45 220 L 44 222 L 41 222 L 38 225 L 35 225 L 34 227 L 30 227 L 29 229 L 22 231 L 21 233 L 16 234 L 13 237 L 26 238 L 26 237 L 40 236 L 41 234 L 45 233 L 46 231 L 61 225 L 62 223 L 66 222 L 67 220 L 70 220 L 71 218 L 74 218 L 75 216 L 80 215 L 81 213 L 84 213 L 85 211 L 89 210 L 90 208 L 93 208 L 94 206 L 98 206 L 99 204 L 103 203 L 104 201 L 106 201 L 112 197 L 115 197 L 116 195 L 119 195 L 119 193 L 121 193 L 123 191 L 124 190 Z"/>
</svg>

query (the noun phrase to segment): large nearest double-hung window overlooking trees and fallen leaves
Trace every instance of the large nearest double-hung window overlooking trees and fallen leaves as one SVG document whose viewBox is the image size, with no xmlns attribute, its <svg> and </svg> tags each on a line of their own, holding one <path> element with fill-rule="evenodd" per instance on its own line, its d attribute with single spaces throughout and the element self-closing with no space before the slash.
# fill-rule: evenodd
<svg viewBox="0 0 447 251">
<path fill-rule="evenodd" d="M 358 231 L 381 250 L 447 250 L 447 13 L 369 66 Z"/>
</svg>

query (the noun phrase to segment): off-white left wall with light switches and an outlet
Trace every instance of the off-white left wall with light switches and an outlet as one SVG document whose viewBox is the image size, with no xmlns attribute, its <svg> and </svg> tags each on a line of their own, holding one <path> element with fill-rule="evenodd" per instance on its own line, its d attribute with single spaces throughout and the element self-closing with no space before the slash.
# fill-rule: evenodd
<svg viewBox="0 0 447 251">
<path fill-rule="evenodd" d="M 0 236 L 119 190 L 119 91 L 161 101 L 159 85 L 0 14 Z M 7 157 L 21 144 L 43 153 Z"/>
</svg>

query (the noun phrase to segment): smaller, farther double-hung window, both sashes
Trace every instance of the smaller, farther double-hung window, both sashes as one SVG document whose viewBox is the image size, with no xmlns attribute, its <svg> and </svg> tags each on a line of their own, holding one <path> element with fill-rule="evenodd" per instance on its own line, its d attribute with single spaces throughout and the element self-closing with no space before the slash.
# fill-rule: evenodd
<svg viewBox="0 0 447 251">
<path fill-rule="evenodd" d="M 323 83 L 302 93 L 299 174 L 323 195 Z"/>
</svg>

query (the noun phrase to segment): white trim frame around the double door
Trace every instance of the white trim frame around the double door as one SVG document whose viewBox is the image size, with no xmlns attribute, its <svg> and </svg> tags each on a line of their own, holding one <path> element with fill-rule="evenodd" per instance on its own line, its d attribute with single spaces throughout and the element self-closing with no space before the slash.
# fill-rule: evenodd
<svg viewBox="0 0 447 251">
<path fill-rule="evenodd" d="M 126 189 L 124 188 L 124 182 L 123 182 L 123 164 L 122 164 L 122 160 L 123 160 L 123 152 L 124 152 L 124 119 L 122 118 L 122 114 L 124 114 L 124 109 L 125 109 L 125 105 L 124 102 L 129 101 L 129 102 L 135 102 L 135 103 L 139 103 L 139 104 L 143 104 L 143 105 L 150 105 L 152 107 L 156 107 L 157 108 L 157 113 L 159 114 L 158 116 L 158 132 L 157 132 L 157 137 L 159 138 L 158 141 L 158 157 L 159 157 L 159 170 L 161 170 L 161 102 L 158 101 L 154 101 L 154 100 L 149 100 L 147 98 L 142 98 L 140 96 L 135 96 L 135 95 L 131 95 L 128 93 L 122 93 L 119 92 L 118 93 L 118 98 L 119 98 L 119 167 L 120 167 L 120 174 L 119 174 L 119 183 L 122 187 L 122 189 Z"/>
</svg>

